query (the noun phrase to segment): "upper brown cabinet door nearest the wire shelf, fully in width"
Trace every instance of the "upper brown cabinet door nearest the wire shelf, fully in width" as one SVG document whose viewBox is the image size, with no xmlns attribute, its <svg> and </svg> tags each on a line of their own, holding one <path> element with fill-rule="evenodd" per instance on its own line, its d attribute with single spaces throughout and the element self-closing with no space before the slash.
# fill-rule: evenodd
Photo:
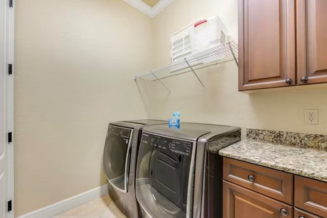
<svg viewBox="0 0 327 218">
<path fill-rule="evenodd" d="M 295 85 L 295 0 L 239 0 L 239 90 Z"/>
</svg>

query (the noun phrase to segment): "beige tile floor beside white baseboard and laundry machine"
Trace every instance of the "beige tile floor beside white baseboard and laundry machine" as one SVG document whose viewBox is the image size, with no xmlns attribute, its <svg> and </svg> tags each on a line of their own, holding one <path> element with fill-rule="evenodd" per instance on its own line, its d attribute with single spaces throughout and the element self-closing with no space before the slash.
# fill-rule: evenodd
<svg viewBox="0 0 327 218">
<path fill-rule="evenodd" d="M 126 218 L 116 207 L 109 195 L 92 200 L 79 207 L 61 213 L 55 218 Z"/>
</svg>

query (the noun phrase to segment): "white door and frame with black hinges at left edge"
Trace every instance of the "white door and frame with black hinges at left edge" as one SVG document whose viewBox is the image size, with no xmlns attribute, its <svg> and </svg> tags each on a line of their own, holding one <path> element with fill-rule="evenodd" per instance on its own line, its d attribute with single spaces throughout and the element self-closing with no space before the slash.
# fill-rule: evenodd
<svg viewBox="0 0 327 218">
<path fill-rule="evenodd" d="M 0 217 L 4 218 L 13 217 L 13 211 L 8 211 L 8 201 L 13 200 L 13 143 L 8 141 L 13 102 L 13 78 L 8 74 L 13 55 L 12 12 L 9 0 L 0 0 Z"/>
</svg>

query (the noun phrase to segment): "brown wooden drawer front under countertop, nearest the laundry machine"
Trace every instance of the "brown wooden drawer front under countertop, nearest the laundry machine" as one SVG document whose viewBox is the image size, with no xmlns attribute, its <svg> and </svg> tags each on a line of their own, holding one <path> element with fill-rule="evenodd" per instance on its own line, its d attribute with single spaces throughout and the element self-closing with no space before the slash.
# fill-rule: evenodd
<svg viewBox="0 0 327 218">
<path fill-rule="evenodd" d="M 276 200 L 293 204 L 292 174 L 224 158 L 223 178 Z"/>
</svg>

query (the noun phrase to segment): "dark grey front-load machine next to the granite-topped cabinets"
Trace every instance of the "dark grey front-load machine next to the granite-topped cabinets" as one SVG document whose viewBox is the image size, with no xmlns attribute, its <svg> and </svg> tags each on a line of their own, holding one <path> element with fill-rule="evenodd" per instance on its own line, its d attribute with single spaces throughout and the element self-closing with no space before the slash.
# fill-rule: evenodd
<svg viewBox="0 0 327 218">
<path fill-rule="evenodd" d="M 240 131 L 194 123 L 144 128 L 135 181 L 142 217 L 203 217 L 208 144 L 229 146 L 240 140 Z"/>
</svg>

